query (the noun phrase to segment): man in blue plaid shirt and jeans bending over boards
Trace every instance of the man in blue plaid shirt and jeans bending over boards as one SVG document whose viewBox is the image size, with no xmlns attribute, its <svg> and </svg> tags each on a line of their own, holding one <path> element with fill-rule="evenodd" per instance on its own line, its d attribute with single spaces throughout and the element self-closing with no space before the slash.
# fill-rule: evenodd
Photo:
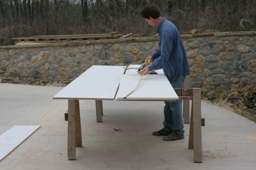
<svg viewBox="0 0 256 170">
<path fill-rule="evenodd" d="M 154 60 L 149 66 L 140 71 L 148 74 L 149 71 L 163 69 L 173 88 L 182 88 L 184 78 L 190 74 L 188 59 L 179 31 L 175 25 L 164 17 L 153 5 L 147 5 L 141 11 L 141 16 L 159 32 L 159 49 L 148 59 Z M 157 88 L 157 87 L 156 87 Z M 165 101 L 163 129 L 153 132 L 154 136 L 164 136 L 166 141 L 184 139 L 184 124 L 182 117 L 182 101 Z"/>
</svg>

